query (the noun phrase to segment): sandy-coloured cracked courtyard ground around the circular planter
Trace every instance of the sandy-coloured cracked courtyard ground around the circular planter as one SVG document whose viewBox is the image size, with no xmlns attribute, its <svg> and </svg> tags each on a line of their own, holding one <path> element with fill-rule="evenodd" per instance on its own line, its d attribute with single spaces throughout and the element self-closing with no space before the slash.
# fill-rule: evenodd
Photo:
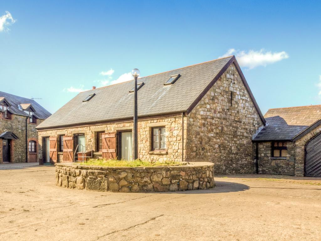
<svg viewBox="0 0 321 241">
<path fill-rule="evenodd" d="M 112 193 L 57 187 L 53 166 L 9 165 L 1 241 L 321 240 L 321 178 L 217 176 L 210 190 Z"/>
</svg>

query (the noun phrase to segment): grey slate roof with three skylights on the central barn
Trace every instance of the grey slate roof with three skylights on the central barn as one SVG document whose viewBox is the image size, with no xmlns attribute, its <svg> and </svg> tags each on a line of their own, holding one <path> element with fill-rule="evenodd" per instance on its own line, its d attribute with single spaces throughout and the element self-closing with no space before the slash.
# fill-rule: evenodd
<svg viewBox="0 0 321 241">
<path fill-rule="evenodd" d="M 144 85 L 138 90 L 138 116 L 187 112 L 214 78 L 234 61 L 237 65 L 235 57 L 230 56 L 139 78 L 137 83 Z M 164 86 L 170 76 L 178 74 L 181 76 L 173 85 Z M 129 93 L 133 85 L 131 80 L 81 92 L 37 129 L 133 118 L 134 93 Z M 82 102 L 90 94 L 95 96 Z M 264 120 L 263 115 L 261 118 Z"/>
</svg>

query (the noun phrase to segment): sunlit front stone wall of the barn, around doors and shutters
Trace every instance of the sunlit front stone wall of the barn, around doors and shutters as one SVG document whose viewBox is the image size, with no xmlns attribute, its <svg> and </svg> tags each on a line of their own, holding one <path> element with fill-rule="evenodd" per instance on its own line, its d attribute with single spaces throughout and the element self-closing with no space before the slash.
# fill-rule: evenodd
<svg viewBox="0 0 321 241">
<path fill-rule="evenodd" d="M 186 117 L 185 117 L 186 118 Z M 185 119 L 186 122 L 186 119 Z M 151 135 L 152 127 L 165 126 L 166 131 L 166 150 L 152 151 Z M 94 148 L 94 158 L 101 156 L 101 152 L 95 150 L 96 133 L 99 131 L 118 132 L 129 130 L 132 131 L 133 122 L 116 122 L 109 124 L 99 124 L 83 127 L 62 128 L 54 130 L 39 130 L 39 144 L 42 146 L 43 137 L 58 137 L 58 135 L 85 134 L 86 145 L 92 145 Z M 186 130 L 185 130 L 186 131 Z M 185 134 L 186 137 L 186 134 Z M 182 156 L 182 118 L 181 116 L 164 117 L 158 119 L 148 119 L 138 121 L 138 155 L 142 160 L 181 161 Z M 42 158 L 42 152 L 39 153 Z M 58 160 L 63 162 L 62 153 L 58 153 Z"/>
</svg>

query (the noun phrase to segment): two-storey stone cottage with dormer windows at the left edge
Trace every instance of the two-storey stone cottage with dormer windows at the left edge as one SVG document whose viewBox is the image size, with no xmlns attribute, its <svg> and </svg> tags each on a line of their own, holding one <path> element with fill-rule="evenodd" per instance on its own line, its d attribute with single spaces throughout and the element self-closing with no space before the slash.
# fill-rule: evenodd
<svg viewBox="0 0 321 241">
<path fill-rule="evenodd" d="M 36 126 L 48 116 L 34 100 L 0 91 L 0 163 L 37 162 Z"/>
</svg>

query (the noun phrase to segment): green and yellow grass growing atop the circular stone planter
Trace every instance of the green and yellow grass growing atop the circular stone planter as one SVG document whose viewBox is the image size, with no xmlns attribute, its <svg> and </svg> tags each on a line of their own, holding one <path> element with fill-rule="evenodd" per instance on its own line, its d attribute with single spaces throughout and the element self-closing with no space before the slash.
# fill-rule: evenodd
<svg viewBox="0 0 321 241">
<path fill-rule="evenodd" d="M 116 160 L 116 159 L 89 159 L 87 162 L 78 162 L 76 165 L 85 166 L 107 166 L 107 167 L 138 167 L 138 166 L 179 166 L 186 165 L 186 163 L 175 162 L 175 161 L 164 161 L 164 162 L 149 162 L 142 161 L 139 159 L 133 161 Z"/>
</svg>

